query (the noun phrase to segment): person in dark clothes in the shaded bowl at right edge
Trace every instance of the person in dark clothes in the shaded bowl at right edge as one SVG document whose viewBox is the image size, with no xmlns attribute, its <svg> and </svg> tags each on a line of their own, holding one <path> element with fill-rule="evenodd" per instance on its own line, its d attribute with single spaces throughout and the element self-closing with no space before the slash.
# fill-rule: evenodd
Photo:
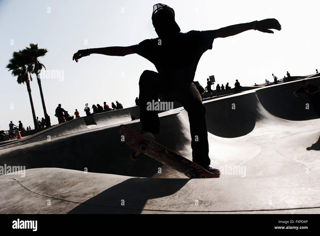
<svg viewBox="0 0 320 236">
<path fill-rule="evenodd" d="M 315 109 L 316 114 L 320 117 L 320 88 L 315 84 L 308 84 L 306 80 L 301 80 L 301 87 L 293 93 L 294 97 L 298 100 L 299 97 L 297 93 L 304 93 L 307 95 L 313 108 Z"/>
</svg>

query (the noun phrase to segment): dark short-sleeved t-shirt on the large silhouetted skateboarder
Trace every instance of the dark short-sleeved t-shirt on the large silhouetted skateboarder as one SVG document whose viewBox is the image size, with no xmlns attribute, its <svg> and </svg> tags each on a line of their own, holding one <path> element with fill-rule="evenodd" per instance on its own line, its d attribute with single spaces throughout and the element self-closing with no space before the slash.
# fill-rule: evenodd
<svg viewBox="0 0 320 236">
<path fill-rule="evenodd" d="M 168 39 L 146 39 L 131 49 L 152 62 L 165 80 L 192 82 L 200 57 L 212 49 L 215 35 L 215 30 L 191 30 Z"/>
</svg>

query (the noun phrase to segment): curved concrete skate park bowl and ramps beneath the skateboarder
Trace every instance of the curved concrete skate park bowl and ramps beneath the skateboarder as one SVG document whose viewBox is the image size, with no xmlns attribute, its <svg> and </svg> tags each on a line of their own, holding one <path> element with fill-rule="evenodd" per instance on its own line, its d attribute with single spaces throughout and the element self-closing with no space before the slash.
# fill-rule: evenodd
<svg viewBox="0 0 320 236">
<path fill-rule="evenodd" d="M 307 81 L 320 85 L 318 77 Z M 306 111 L 308 97 L 293 98 L 299 87 L 300 80 L 204 102 L 218 179 L 189 180 L 147 156 L 130 160 L 120 122 L 3 148 L 0 165 L 27 170 L 0 176 L 0 212 L 319 213 L 320 119 L 312 105 Z M 187 112 L 159 116 L 156 141 L 191 159 Z M 122 123 L 141 129 L 139 120 Z M 47 198 L 55 207 L 39 207 Z"/>
</svg>

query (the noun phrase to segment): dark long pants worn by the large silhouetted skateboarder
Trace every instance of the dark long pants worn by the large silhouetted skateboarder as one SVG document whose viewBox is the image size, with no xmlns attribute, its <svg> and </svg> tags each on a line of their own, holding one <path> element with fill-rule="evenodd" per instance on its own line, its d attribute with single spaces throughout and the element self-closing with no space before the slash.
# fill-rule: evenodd
<svg viewBox="0 0 320 236">
<path fill-rule="evenodd" d="M 148 111 L 147 102 L 158 101 L 158 96 L 167 101 L 178 101 L 188 112 L 192 161 L 206 167 L 210 165 L 205 107 L 198 89 L 191 82 L 166 81 L 157 72 L 144 71 L 139 81 L 140 122 L 142 131 L 159 133 L 160 121 L 157 111 Z"/>
</svg>

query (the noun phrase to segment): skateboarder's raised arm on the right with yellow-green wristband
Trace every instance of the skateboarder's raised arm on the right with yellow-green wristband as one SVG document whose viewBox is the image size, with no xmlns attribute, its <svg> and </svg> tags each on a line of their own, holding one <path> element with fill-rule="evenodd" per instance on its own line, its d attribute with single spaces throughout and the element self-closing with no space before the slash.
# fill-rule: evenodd
<svg viewBox="0 0 320 236">
<path fill-rule="evenodd" d="M 252 21 L 249 23 L 230 25 L 216 30 L 215 38 L 226 38 L 247 30 L 259 30 L 264 33 L 272 33 L 270 29 L 281 30 L 281 25 L 276 19 L 265 19 L 262 21 Z"/>
</svg>

